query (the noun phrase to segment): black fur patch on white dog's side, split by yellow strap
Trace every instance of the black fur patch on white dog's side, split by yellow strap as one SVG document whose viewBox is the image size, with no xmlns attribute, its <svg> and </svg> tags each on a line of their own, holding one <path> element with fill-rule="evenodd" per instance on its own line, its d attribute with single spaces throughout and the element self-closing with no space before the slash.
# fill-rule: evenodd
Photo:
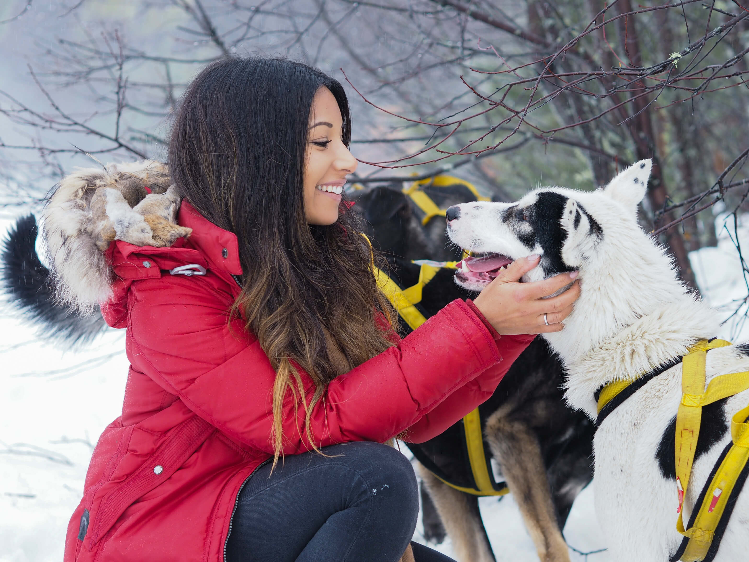
<svg viewBox="0 0 749 562">
<path fill-rule="evenodd" d="M 728 424 L 726 423 L 726 401 L 727 398 L 717 400 L 712 404 L 703 406 L 702 420 L 700 422 L 700 435 L 697 435 L 697 446 L 694 447 L 694 461 L 707 453 L 718 441 L 726 435 Z M 658 444 L 655 459 L 658 460 L 658 468 L 667 480 L 676 479 L 676 416 L 666 426 Z"/>
</svg>

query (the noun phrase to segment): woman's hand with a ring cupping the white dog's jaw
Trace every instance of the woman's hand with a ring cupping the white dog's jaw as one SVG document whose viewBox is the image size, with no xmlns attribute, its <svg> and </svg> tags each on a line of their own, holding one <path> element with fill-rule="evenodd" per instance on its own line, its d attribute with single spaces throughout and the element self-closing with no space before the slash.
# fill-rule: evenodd
<svg viewBox="0 0 749 562">
<path fill-rule="evenodd" d="M 577 271 L 521 283 L 520 278 L 538 264 L 539 256 L 515 260 L 473 299 L 476 308 L 501 335 L 558 332 L 564 327 L 560 322 L 572 312 L 572 303 L 580 296 L 579 280 L 557 297 L 543 297 L 569 285 L 577 277 Z"/>
</svg>

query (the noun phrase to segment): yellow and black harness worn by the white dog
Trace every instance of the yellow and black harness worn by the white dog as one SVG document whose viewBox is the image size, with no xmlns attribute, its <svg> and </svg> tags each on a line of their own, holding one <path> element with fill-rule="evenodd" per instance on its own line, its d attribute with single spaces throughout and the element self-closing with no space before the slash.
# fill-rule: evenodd
<svg viewBox="0 0 749 562">
<path fill-rule="evenodd" d="M 749 474 L 749 406 L 734 414 L 731 420 L 731 442 L 724 449 L 684 528 L 684 497 L 689 484 L 694 451 L 700 436 L 703 406 L 749 389 L 749 371 L 720 375 L 705 387 L 705 363 L 710 349 L 731 345 L 724 339 L 697 342 L 689 348 L 682 362 L 682 401 L 676 414 L 676 491 L 679 495 L 679 518 L 676 531 L 684 535 L 671 561 L 712 561 L 718 552 L 723 532 L 736 504 L 736 498 Z M 655 375 L 679 363 L 673 360 L 634 381 L 616 381 L 601 389 L 598 401 L 598 425 L 608 414 Z M 715 543 L 714 543 L 715 539 Z"/>
</svg>

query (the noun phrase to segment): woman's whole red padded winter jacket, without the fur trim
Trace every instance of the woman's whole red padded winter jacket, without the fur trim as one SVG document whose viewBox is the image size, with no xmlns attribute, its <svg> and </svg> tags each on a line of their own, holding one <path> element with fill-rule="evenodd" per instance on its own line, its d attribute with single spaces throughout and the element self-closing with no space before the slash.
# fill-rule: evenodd
<svg viewBox="0 0 749 562">
<path fill-rule="evenodd" d="M 108 257 L 118 277 L 103 307 L 127 327 L 122 415 L 101 435 L 73 513 L 65 562 L 219 562 L 244 482 L 270 459 L 275 373 L 241 321 L 228 322 L 240 288 L 237 238 L 187 202 L 179 223 L 189 240 L 173 247 L 117 241 Z M 203 276 L 170 275 L 199 265 Z M 437 435 L 488 399 L 533 336 L 495 340 L 461 300 L 351 372 L 336 378 L 312 416 L 318 446 L 383 442 L 407 430 Z M 306 378 L 311 394 L 312 381 Z M 291 402 L 283 453 L 312 449 Z"/>
</svg>

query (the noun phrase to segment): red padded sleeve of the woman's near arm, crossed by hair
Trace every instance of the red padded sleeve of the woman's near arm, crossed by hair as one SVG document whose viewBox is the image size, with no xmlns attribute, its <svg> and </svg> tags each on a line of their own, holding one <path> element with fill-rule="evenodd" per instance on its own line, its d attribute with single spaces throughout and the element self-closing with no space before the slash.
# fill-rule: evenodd
<svg viewBox="0 0 749 562">
<path fill-rule="evenodd" d="M 204 278 L 133 283 L 128 302 L 130 363 L 240 444 L 273 453 L 276 373 L 258 342 L 228 321 L 230 294 Z M 500 361 L 491 333 L 455 300 L 395 347 L 335 378 L 311 415 L 318 447 L 386 441 L 413 426 L 455 390 Z M 306 399 L 314 392 L 303 374 Z M 312 449 L 305 412 L 287 396 L 284 454 Z"/>
</svg>

